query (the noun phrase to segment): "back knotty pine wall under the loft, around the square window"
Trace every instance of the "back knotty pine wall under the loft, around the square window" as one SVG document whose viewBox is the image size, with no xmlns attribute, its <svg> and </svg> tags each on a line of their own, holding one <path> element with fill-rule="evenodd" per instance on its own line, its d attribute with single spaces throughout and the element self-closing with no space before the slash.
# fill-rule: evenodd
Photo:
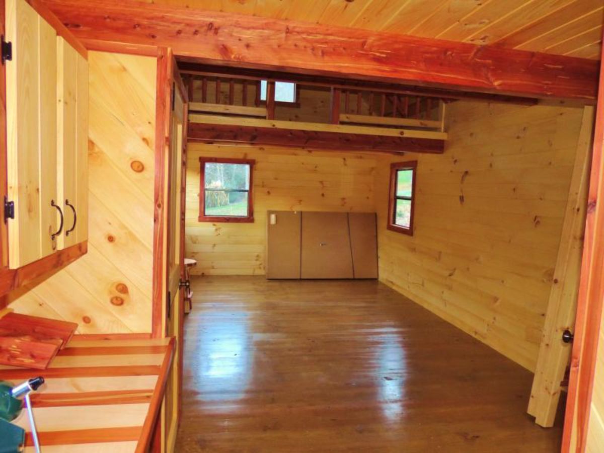
<svg viewBox="0 0 604 453">
<path fill-rule="evenodd" d="M 254 223 L 198 222 L 199 158 L 255 159 Z M 190 143 L 186 256 L 192 274 L 265 274 L 266 211 L 374 211 L 376 155 Z"/>
</svg>

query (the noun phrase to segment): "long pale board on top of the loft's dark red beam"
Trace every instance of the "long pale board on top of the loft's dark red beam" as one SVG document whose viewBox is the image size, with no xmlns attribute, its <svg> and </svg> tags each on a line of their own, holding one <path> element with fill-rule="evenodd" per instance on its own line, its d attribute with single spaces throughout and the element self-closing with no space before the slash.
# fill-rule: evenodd
<svg viewBox="0 0 604 453">
<path fill-rule="evenodd" d="M 353 135 L 380 135 L 384 137 L 432 138 L 447 140 L 446 132 L 390 127 L 353 126 L 351 124 L 306 123 L 304 121 L 263 120 L 260 118 L 226 117 L 190 114 L 190 123 L 219 124 L 220 126 L 270 127 L 271 129 L 306 130 L 316 132 L 351 133 Z"/>
</svg>

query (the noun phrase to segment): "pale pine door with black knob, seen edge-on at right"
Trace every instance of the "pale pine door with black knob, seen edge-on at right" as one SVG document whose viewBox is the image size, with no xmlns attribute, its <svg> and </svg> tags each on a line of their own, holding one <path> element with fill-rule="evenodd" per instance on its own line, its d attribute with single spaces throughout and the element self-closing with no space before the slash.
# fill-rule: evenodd
<svg viewBox="0 0 604 453">
<path fill-rule="evenodd" d="M 571 345 L 562 341 L 565 330 L 574 332 L 574 319 L 579 293 L 579 274 L 585 231 L 587 189 L 590 176 L 590 158 L 593 149 L 593 106 L 585 107 L 574 161 L 573 176 L 562 236 L 558 248 L 556 269 L 550 298 L 545 313 L 545 324 L 535 368 L 533 388 L 528 402 L 528 413 L 538 425 L 554 425 L 561 382 L 570 359 Z"/>
</svg>

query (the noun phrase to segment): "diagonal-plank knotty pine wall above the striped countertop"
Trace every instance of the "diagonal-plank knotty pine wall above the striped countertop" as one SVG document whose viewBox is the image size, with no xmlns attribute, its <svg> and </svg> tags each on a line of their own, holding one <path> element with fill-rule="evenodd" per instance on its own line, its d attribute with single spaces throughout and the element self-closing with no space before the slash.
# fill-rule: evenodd
<svg viewBox="0 0 604 453">
<path fill-rule="evenodd" d="M 151 331 L 156 59 L 89 53 L 88 254 L 10 295 L 79 333 Z"/>
</svg>

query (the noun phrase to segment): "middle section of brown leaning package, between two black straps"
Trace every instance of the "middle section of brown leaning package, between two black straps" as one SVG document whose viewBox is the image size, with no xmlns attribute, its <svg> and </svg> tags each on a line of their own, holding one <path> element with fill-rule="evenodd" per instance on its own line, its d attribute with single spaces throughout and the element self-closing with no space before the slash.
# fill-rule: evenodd
<svg viewBox="0 0 604 453">
<path fill-rule="evenodd" d="M 302 278 L 354 278 L 347 213 L 302 213 Z"/>
</svg>

